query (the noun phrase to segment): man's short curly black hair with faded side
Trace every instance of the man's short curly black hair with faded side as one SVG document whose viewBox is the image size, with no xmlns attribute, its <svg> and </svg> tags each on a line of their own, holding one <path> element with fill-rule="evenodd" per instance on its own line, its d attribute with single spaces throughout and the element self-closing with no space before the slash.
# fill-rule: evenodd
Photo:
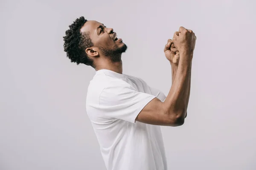
<svg viewBox="0 0 256 170">
<path fill-rule="evenodd" d="M 89 32 L 81 33 L 80 29 L 86 23 L 87 20 L 84 17 L 77 18 L 66 31 L 64 39 L 64 51 L 67 53 L 67 57 L 71 62 L 76 62 L 77 65 L 83 63 L 95 68 L 93 60 L 91 60 L 85 49 L 93 46 L 93 42 L 90 39 Z"/>
</svg>

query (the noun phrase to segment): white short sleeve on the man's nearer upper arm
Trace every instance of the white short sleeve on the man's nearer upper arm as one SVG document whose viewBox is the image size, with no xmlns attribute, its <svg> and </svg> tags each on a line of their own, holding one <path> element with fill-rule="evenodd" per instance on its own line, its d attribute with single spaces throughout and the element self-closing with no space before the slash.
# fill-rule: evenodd
<svg viewBox="0 0 256 170">
<path fill-rule="evenodd" d="M 135 123 L 140 111 L 155 96 L 136 91 L 131 85 L 116 85 L 104 88 L 99 96 L 102 116 Z"/>
</svg>

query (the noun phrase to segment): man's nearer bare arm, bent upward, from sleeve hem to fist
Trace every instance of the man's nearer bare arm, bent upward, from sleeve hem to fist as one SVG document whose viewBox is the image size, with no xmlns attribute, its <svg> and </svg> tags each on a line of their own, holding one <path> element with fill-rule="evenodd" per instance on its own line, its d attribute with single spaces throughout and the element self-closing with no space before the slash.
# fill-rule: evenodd
<svg viewBox="0 0 256 170">
<path fill-rule="evenodd" d="M 153 125 L 183 125 L 189 103 L 195 40 L 195 34 L 191 30 L 180 27 L 179 31 L 175 32 L 173 42 L 180 56 L 177 59 L 179 64 L 172 87 L 164 102 L 157 98 L 151 100 L 138 114 L 137 121 Z M 175 62 L 175 56 L 171 58 Z"/>
</svg>

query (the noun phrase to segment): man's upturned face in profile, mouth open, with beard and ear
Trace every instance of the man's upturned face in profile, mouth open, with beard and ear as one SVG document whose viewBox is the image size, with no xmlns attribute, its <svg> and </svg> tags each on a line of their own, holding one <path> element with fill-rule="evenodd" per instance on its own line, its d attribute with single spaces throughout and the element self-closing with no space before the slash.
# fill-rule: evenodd
<svg viewBox="0 0 256 170">
<path fill-rule="evenodd" d="M 90 33 L 90 38 L 94 44 L 89 51 L 87 50 L 87 54 L 96 51 L 99 55 L 102 54 L 113 62 L 121 60 L 121 54 L 126 51 L 127 46 L 121 38 L 117 38 L 113 28 L 107 28 L 97 21 L 87 21 L 81 28 L 81 32 L 84 31 Z M 89 55 L 93 54 L 90 53 Z"/>
</svg>

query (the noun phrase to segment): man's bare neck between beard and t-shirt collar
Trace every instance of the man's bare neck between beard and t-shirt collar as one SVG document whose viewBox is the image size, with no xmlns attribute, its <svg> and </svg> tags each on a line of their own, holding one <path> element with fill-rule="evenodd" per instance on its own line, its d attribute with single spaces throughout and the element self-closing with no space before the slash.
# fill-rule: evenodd
<svg viewBox="0 0 256 170">
<path fill-rule="evenodd" d="M 109 59 L 101 60 L 96 64 L 95 70 L 98 71 L 102 69 L 111 70 L 116 73 L 122 74 L 122 60 L 118 62 L 113 62 L 113 61 L 110 61 Z"/>
</svg>

